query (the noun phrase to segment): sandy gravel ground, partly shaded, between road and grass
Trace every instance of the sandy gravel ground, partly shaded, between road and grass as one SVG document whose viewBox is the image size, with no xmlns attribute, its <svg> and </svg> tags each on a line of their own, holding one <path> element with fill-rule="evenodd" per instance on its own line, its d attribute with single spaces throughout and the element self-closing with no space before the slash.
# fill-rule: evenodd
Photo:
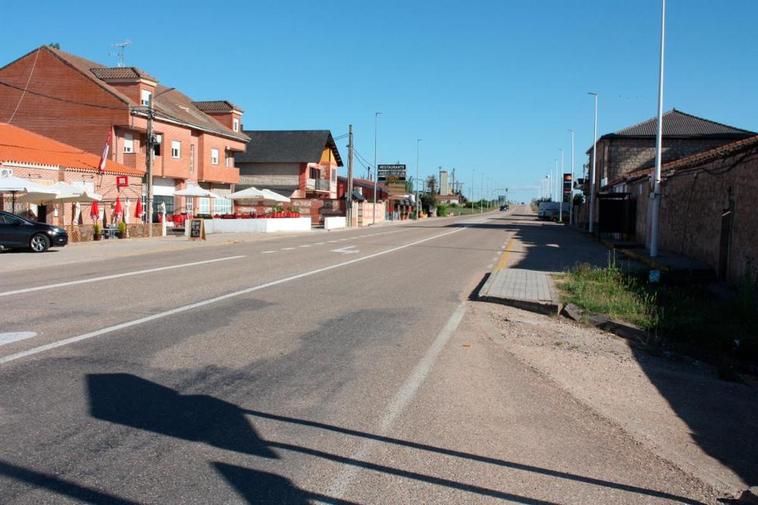
<svg viewBox="0 0 758 505">
<path fill-rule="evenodd" d="M 703 363 L 652 356 L 573 321 L 482 307 L 519 361 L 716 495 L 732 497 L 756 483 L 753 386 L 718 380 Z"/>
</svg>

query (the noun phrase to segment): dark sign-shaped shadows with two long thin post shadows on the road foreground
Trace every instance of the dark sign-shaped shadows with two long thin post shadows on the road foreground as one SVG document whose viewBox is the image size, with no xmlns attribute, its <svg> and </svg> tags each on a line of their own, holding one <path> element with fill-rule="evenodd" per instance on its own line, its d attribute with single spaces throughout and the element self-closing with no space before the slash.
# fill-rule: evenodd
<svg viewBox="0 0 758 505">
<path fill-rule="evenodd" d="M 532 472 L 557 479 L 581 482 L 649 497 L 664 498 L 679 503 L 699 503 L 686 497 L 623 483 L 503 461 L 487 456 L 375 435 L 316 421 L 242 409 L 229 402 L 207 395 L 182 395 L 171 388 L 130 374 L 91 374 L 87 376 L 86 383 L 90 398 L 90 412 L 97 419 L 187 441 L 206 443 L 214 447 L 252 456 L 278 459 L 280 456 L 274 452 L 277 449 L 279 451 L 303 454 L 480 496 L 532 505 L 550 503 L 504 491 L 443 479 L 433 475 L 358 460 L 352 457 L 303 447 L 295 443 L 264 440 L 259 437 L 253 424 L 248 421 L 246 416 L 327 430 L 340 435 L 359 437 L 384 444 L 402 446 L 412 450 L 452 456 L 478 463 L 497 465 L 511 470 Z M 282 501 L 280 499 L 277 501 L 281 503 L 306 503 L 304 500 L 316 496 L 298 489 L 287 479 L 278 475 L 223 463 L 213 463 L 213 465 L 227 481 L 237 488 L 240 494 L 248 497 L 250 503 L 259 503 L 260 501 L 255 500 L 261 500 L 263 497 L 268 496 L 277 496 L 289 500 Z M 329 497 L 319 497 L 318 499 L 327 502 L 332 500 L 332 503 L 347 503 Z"/>
</svg>

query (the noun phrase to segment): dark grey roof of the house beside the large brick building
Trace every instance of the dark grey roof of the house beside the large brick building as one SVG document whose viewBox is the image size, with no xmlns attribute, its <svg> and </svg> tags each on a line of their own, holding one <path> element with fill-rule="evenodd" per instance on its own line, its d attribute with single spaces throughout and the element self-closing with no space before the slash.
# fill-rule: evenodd
<svg viewBox="0 0 758 505">
<path fill-rule="evenodd" d="M 329 130 L 247 130 L 250 137 L 244 153 L 235 156 L 239 163 L 317 163 L 324 148 L 330 148 L 342 166 L 337 145 Z"/>
</svg>

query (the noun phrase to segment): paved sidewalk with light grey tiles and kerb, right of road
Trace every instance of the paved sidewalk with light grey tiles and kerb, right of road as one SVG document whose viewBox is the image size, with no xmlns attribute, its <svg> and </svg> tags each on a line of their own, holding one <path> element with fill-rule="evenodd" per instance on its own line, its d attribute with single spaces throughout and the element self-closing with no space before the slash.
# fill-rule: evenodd
<svg viewBox="0 0 758 505">
<path fill-rule="evenodd" d="M 539 221 L 528 206 L 491 218 L 488 226 L 511 232 L 499 261 L 479 290 L 479 299 L 556 315 L 560 298 L 552 274 L 579 263 L 608 264 L 607 249 L 564 225 Z"/>
</svg>

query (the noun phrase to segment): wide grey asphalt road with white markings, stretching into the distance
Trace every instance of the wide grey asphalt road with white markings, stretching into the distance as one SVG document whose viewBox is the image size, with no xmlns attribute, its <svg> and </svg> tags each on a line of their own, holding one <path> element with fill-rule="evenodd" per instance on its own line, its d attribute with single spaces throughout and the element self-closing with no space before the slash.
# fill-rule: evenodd
<svg viewBox="0 0 758 505">
<path fill-rule="evenodd" d="M 491 338 L 502 223 L 4 272 L 0 502 L 710 501 Z"/>
</svg>

